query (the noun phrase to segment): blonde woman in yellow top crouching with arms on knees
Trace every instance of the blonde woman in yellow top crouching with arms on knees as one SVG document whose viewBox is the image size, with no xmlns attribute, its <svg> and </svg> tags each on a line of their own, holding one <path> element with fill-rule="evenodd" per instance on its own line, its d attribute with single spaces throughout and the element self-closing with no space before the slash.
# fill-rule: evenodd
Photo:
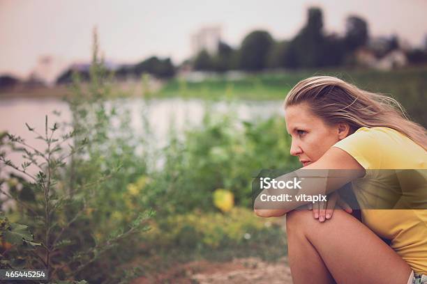
<svg viewBox="0 0 427 284">
<path fill-rule="evenodd" d="M 352 182 L 359 203 L 389 190 L 383 180 L 373 182 L 371 170 L 427 168 L 426 129 L 389 97 L 334 77 L 311 77 L 292 88 L 284 107 L 291 155 L 304 169 L 360 171 L 343 181 Z M 255 202 L 258 216 L 287 213 L 294 283 L 427 283 L 427 210 L 362 209 L 363 223 L 343 210 L 333 218 L 333 209 L 315 210 L 319 222 L 308 210 L 294 210 L 302 204 L 257 210 Z"/>
</svg>

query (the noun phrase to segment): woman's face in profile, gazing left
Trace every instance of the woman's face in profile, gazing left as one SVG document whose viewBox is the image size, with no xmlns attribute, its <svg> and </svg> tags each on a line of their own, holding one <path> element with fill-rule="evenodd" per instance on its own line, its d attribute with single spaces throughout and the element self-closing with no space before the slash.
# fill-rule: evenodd
<svg viewBox="0 0 427 284">
<path fill-rule="evenodd" d="M 292 137 L 290 154 L 297 156 L 303 166 L 317 161 L 343 138 L 338 125 L 326 125 L 306 103 L 286 107 L 285 120 L 287 132 Z"/>
</svg>

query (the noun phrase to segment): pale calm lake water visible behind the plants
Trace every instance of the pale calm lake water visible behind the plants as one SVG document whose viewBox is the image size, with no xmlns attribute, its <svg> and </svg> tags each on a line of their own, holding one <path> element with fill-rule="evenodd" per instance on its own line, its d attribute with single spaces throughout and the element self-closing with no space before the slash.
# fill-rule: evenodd
<svg viewBox="0 0 427 284">
<path fill-rule="evenodd" d="M 111 103 L 111 102 L 110 102 Z M 155 145 L 162 147 L 166 143 L 167 133 L 172 125 L 177 133 L 191 127 L 197 127 L 204 116 L 205 101 L 197 99 L 183 100 L 181 98 L 169 98 L 162 100 L 120 99 L 114 101 L 123 109 L 128 109 L 130 126 L 135 136 L 143 133 L 142 116 L 149 121 Z M 211 111 L 214 113 L 234 112 L 237 118 L 242 120 L 257 120 L 269 118 L 278 114 L 283 116 L 282 101 L 238 101 L 212 102 Z M 54 116 L 53 111 L 59 111 L 61 115 Z M 29 132 L 25 123 L 35 127 L 39 133 L 44 133 L 45 116 L 49 117 L 50 125 L 54 121 L 70 122 L 71 113 L 66 102 L 54 99 L 0 99 L 0 132 L 7 131 L 10 134 L 21 136 L 30 145 L 43 149 L 44 142 L 35 139 Z M 16 164 L 21 164 L 20 155 L 8 155 Z"/>
</svg>

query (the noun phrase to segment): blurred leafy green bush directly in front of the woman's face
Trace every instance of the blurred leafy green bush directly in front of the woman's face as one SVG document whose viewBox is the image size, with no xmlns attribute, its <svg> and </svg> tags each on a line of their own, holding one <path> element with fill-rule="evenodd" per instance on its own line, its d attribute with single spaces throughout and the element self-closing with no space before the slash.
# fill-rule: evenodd
<svg viewBox="0 0 427 284">
<path fill-rule="evenodd" d="M 231 191 L 235 205 L 250 208 L 251 182 L 262 168 L 298 165 L 289 153 L 283 118 L 250 122 L 212 114 L 209 108 L 205 113 L 202 125 L 188 129 L 182 139 L 172 135 L 163 149 L 163 168 L 141 191 L 159 218 L 197 208 L 218 211 L 212 199 L 216 189 Z"/>
</svg>

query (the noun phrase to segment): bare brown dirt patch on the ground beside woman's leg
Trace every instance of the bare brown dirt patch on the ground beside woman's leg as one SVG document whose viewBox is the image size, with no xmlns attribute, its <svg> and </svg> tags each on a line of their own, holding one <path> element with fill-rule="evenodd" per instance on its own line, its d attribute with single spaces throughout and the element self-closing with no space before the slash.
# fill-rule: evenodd
<svg viewBox="0 0 427 284">
<path fill-rule="evenodd" d="M 264 262 L 259 258 L 239 258 L 230 262 L 209 262 L 207 260 L 189 262 L 151 278 L 137 278 L 132 284 L 148 283 L 290 284 L 292 277 L 286 258 L 275 263 Z"/>
</svg>

